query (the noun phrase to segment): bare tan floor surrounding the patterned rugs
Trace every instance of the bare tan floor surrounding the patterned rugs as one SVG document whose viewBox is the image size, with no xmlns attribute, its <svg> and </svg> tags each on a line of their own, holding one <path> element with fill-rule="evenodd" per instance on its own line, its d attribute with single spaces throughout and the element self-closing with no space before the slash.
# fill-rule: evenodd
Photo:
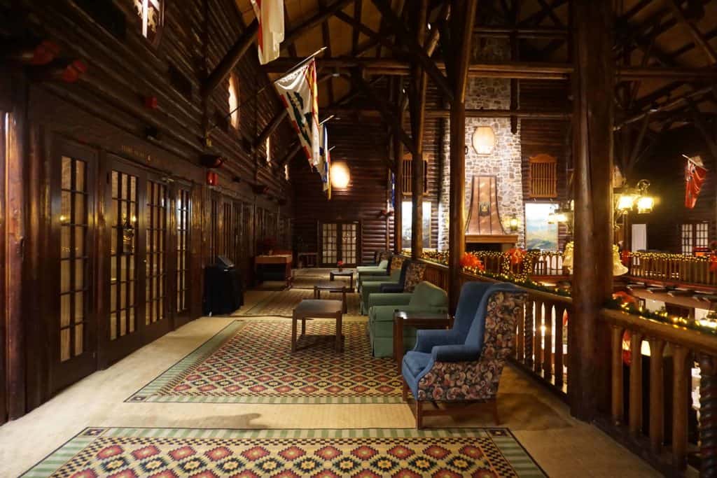
<svg viewBox="0 0 717 478">
<path fill-rule="evenodd" d="M 248 292 L 246 307 L 272 292 Z M 183 428 L 408 428 L 404 404 L 125 403 L 133 392 L 237 317 L 205 317 L 156 340 L 105 371 L 62 391 L 22 419 L 0 427 L 0 477 L 15 477 L 86 426 Z M 256 320 L 252 317 L 252 320 Z M 272 320 L 276 320 L 275 318 Z M 289 320 L 289 319 L 285 319 Z M 571 419 L 566 406 L 521 372 L 508 368 L 498 398 L 508 426 L 551 477 L 658 476 L 594 426 Z M 427 426 L 491 426 L 490 410 L 470 421 L 426 419 Z"/>
</svg>

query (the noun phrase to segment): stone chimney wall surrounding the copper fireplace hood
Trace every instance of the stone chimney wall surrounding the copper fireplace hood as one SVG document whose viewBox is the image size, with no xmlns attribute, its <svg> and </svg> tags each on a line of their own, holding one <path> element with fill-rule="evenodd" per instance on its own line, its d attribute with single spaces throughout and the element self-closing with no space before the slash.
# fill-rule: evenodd
<svg viewBox="0 0 717 478">
<path fill-rule="evenodd" d="M 495 61 L 508 57 L 507 41 L 495 39 L 480 42 L 475 39 L 473 61 Z M 466 109 L 503 110 L 511 106 L 511 81 L 498 78 L 470 78 L 466 85 Z M 473 131 L 480 125 L 493 128 L 495 148 L 493 153 L 476 153 L 472 145 Z M 511 133 L 510 118 L 466 118 L 465 145 L 465 211 L 470 207 L 470 190 L 473 176 L 496 176 L 498 178 L 498 211 L 503 229 L 511 234 L 508 221 L 518 218 L 518 246 L 525 245 L 525 218 L 523 208 L 523 179 L 521 174 L 521 134 Z M 438 249 L 448 249 L 448 224 L 450 222 L 450 120 L 445 120 L 442 140 L 442 164 L 440 199 L 438 204 Z M 464 145 L 458 145 L 462 148 Z M 466 218 L 467 219 L 467 218 Z"/>
</svg>

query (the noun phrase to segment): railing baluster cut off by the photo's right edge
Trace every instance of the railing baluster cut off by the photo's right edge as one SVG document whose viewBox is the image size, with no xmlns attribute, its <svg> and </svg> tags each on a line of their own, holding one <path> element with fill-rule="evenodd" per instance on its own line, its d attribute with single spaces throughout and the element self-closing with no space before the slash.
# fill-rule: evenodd
<svg viewBox="0 0 717 478">
<path fill-rule="evenodd" d="M 717 360 L 700 356 L 701 477 L 717 476 Z"/>
</svg>

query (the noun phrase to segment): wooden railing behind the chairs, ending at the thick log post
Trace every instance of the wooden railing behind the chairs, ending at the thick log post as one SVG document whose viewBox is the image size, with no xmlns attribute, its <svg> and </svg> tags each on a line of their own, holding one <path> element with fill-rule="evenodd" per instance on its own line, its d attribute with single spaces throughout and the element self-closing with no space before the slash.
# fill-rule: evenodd
<svg viewBox="0 0 717 478">
<path fill-rule="evenodd" d="M 422 262 L 427 264 L 424 280 L 448 290 L 448 267 L 435 262 Z M 461 286 L 470 281 L 498 282 L 467 272 L 460 274 Z M 513 360 L 565 397 L 568 376 L 567 322 L 572 311 L 572 300 L 570 297 L 525 287 L 523 290 L 528 300 L 525 313 L 516 326 Z"/>
</svg>

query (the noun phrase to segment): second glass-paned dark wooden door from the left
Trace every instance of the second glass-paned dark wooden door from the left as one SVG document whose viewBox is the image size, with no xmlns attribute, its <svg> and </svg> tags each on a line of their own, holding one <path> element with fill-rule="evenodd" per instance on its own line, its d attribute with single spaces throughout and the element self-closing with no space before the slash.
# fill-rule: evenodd
<svg viewBox="0 0 717 478">
<path fill-rule="evenodd" d="M 146 174 L 108 156 L 104 234 L 109 235 L 108 311 L 100 362 L 113 363 L 143 345 L 146 317 Z"/>
</svg>

